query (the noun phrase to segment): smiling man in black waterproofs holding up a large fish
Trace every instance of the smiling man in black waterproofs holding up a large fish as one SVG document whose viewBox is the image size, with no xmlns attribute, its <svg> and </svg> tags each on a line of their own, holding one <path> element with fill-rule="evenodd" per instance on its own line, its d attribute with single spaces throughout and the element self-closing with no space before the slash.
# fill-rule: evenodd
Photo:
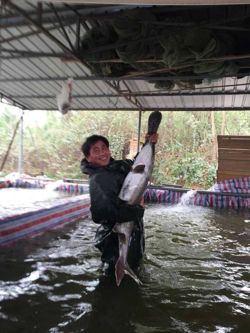
<svg viewBox="0 0 250 333">
<path fill-rule="evenodd" d="M 150 137 L 150 135 L 146 135 Z M 158 134 L 150 137 L 157 143 Z M 116 222 L 135 222 L 128 251 L 128 264 L 136 266 L 141 260 L 145 248 L 143 225 L 144 198 L 139 205 L 129 205 L 118 195 L 133 160 L 115 161 L 109 151 L 108 140 L 99 135 L 88 137 L 82 145 L 85 158 L 81 161 L 81 170 L 89 175 L 90 211 L 95 223 L 101 224 L 97 230 L 94 245 L 101 252 L 104 272 L 115 270 L 119 257 L 118 235 L 113 231 Z"/>
</svg>

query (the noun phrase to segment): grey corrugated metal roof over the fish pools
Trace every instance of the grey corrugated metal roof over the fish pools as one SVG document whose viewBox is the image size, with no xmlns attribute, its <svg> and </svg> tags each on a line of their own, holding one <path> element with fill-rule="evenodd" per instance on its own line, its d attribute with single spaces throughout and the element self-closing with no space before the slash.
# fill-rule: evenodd
<svg viewBox="0 0 250 333">
<path fill-rule="evenodd" d="M 13 4 L 28 13 L 36 20 L 36 2 L 13 0 Z M 63 19 L 66 32 L 71 43 L 76 40 L 76 24 L 66 24 L 67 20 L 75 17 L 74 11 L 64 4 L 56 3 L 60 17 Z M 90 7 L 90 6 L 87 6 Z M 102 13 L 107 8 L 87 8 L 83 5 L 77 7 L 79 13 L 89 14 L 90 11 Z M 131 8 L 131 6 L 108 7 L 109 11 Z M 74 7 L 76 8 L 76 7 Z M 58 39 L 67 48 L 70 45 L 65 38 L 51 8 L 43 4 L 43 24 L 49 33 Z M 91 76 L 90 70 L 81 62 L 63 63 L 57 57 L 39 56 L 39 53 L 62 54 L 62 48 L 44 32 L 38 32 L 39 27 L 28 24 L 20 13 L 11 12 L 8 8 L 1 13 L 1 75 L 0 93 L 8 101 L 30 110 L 57 110 L 56 95 L 60 93 L 63 78 L 72 77 L 73 101 L 72 110 L 138 110 L 142 109 L 168 109 L 168 110 L 207 110 L 207 109 L 249 109 L 250 110 L 250 76 L 244 78 L 221 78 L 211 85 L 205 84 L 195 87 L 195 91 L 180 90 L 177 86 L 172 91 L 159 91 L 154 84 L 146 81 L 133 80 L 120 82 L 119 87 L 112 88 L 104 81 L 80 80 Z M 85 21 L 88 27 L 98 24 L 93 20 Z M 86 27 L 86 26 L 85 26 Z M 86 30 L 80 28 L 80 36 Z M 30 35 L 31 33 L 34 33 Z M 20 37 L 22 36 L 23 37 Z M 8 41 L 3 41 L 8 39 Z M 24 54 L 22 54 L 24 52 Z M 25 54 L 26 52 L 26 54 Z M 35 52 L 33 57 L 27 52 Z M 111 81 L 111 84 L 114 84 Z M 117 93 L 117 91 L 119 93 Z M 122 95 L 123 94 L 123 95 Z M 152 95 L 153 94 L 153 95 Z M 126 96 L 126 98 L 124 97 Z M 136 100 L 135 100 L 136 98 Z M 133 103 L 131 103 L 131 101 Z M 135 105 L 137 103 L 137 106 Z M 140 107 L 141 106 L 141 107 Z"/>
</svg>

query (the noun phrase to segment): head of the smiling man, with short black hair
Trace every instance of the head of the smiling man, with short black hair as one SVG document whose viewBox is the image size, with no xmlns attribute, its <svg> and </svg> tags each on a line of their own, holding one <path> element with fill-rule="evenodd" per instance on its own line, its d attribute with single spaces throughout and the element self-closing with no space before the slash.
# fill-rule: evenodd
<svg viewBox="0 0 250 333">
<path fill-rule="evenodd" d="M 109 164 L 109 142 L 101 135 L 88 137 L 82 145 L 82 152 L 86 160 L 95 166 L 105 167 Z"/>
</svg>

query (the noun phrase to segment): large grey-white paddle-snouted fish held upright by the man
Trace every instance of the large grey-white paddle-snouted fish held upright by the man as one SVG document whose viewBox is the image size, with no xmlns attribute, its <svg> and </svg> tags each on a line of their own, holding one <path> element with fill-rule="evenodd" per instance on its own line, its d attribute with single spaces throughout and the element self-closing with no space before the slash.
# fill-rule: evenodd
<svg viewBox="0 0 250 333">
<path fill-rule="evenodd" d="M 159 111 L 154 111 L 150 114 L 148 118 L 148 134 L 152 135 L 157 133 L 161 118 L 162 115 Z M 155 144 L 147 138 L 133 167 L 131 167 L 131 171 L 124 180 L 119 193 L 120 199 L 131 205 L 139 204 L 147 187 L 147 183 L 151 180 L 154 158 Z M 141 284 L 140 280 L 129 267 L 127 262 L 131 232 L 134 227 L 134 221 L 130 221 L 116 223 L 113 228 L 114 232 L 117 232 L 119 237 L 119 258 L 115 265 L 116 284 L 118 286 L 125 274 L 130 275 L 138 284 Z"/>
</svg>

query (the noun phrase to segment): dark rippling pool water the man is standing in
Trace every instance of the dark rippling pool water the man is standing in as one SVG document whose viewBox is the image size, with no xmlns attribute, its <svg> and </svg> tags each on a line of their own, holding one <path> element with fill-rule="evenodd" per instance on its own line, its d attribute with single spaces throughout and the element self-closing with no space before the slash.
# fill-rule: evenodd
<svg viewBox="0 0 250 333">
<path fill-rule="evenodd" d="M 0 249 L 8 332 L 249 332 L 248 210 L 148 204 L 146 252 L 120 287 L 79 220 Z"/>
</svg>

